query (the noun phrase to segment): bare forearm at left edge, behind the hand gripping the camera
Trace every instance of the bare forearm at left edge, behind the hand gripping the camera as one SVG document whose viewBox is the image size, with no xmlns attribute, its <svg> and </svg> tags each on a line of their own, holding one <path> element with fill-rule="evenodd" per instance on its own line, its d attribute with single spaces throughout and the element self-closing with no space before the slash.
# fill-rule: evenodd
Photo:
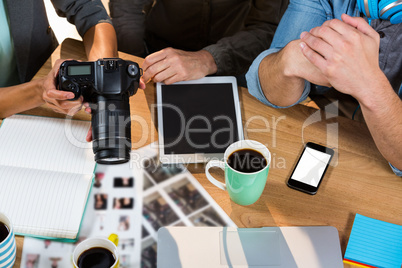
<svg viewBox="0 0 402 268">
<path fill-rule="evenodd" d="M 42 79 L 17 86 L 0 88 L 0 118 L 44 104 L 42 94 Z"/>
</svg>

